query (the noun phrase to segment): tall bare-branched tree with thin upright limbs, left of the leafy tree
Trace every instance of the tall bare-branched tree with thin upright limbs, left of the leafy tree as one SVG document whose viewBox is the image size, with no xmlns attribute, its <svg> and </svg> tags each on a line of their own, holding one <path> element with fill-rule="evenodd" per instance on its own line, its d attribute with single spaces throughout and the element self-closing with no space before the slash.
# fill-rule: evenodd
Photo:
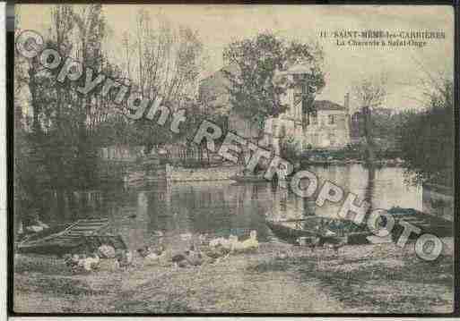
<svg viewBox="0 0 460 321">
<path fill-rule="evenodd" d="M 143 97 L 161 97 L 172 109 L 193 106 L 188 102 L 196 97 L 202 43 L 194 30 L 175 28 L 161 15 L 154 18 L 141 9 L 135 34 L 124 34 L 126 78 Z M 136 125 L 147 151 L 170 139 L 154 122 L 139 120 Z"/>
</svg>

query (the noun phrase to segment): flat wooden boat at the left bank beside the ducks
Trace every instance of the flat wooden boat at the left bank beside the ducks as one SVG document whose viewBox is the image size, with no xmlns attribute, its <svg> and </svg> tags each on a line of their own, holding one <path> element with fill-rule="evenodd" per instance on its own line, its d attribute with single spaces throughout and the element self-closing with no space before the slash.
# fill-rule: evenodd
<svg viewBox="0 0 460 321">
<path fill-rule="evenodd" d="M 83 219 L 67 226 L 63 231 L 38 240 L 26 239 L 16 244 L 19 253 L 54 254 L 57 256 L 72 251 L 94 251 L 102 244 L 115 249 L 126 249 L 119 235 L 104 234 L 108 219 Z"/>
</svg>

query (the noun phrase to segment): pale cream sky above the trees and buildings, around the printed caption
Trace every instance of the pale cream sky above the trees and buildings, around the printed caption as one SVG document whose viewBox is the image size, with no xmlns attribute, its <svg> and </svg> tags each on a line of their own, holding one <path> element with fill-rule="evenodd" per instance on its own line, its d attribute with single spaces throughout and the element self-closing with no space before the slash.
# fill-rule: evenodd
<svg viewBox="0 0 460 321">
<path fill-rule="evenodd" d="M 22 29 L 45 30 L 50 4 L 22 4 Z M 196 30 L 206 57 L 202 77 L 223 66 L 222 50 L 231 41 L 273 31 L 286 39 L 318 41 L 325 52 L 326 86 L 317 99 L 343 104 L 352 85 L 369 76 L 385 73 L 386 106 L 417 108 L 420 80 L 427 74 L 454 70 L 454 12 L 451 6 L 408 5 L 248 5 L 248 4 L 106 4 L 104 14 L 110 29 L 108 50 L 121 46 L 125 31 L 135 28 L 136 13 L 143 7 L 152 16 L 161 13 L 172 24 Z M 426 40 L 426 46 L 337 46 L 337 39 L 319 38 L 340 30 L 443 31 L 446 38 Z M 345 42 L 349 39 L 345 39 Z M 362 39 L 360 39 L 362 40 Z M 420 40 L 419 40 L 420 41 Z M 452 76 L 453 77 L 453 76 Z M 356 101 L 351 100 L 351 105 Z"/>
</svg>

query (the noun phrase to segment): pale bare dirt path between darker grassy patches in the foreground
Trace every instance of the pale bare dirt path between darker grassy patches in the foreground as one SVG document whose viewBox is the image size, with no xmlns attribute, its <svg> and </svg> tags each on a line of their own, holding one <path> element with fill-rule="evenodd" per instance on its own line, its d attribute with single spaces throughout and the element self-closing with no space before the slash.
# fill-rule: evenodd
<svg viewBox="0 0 460 321">
<path fill-rule="evenodd" d="M 271 264 L 273 260 L 282 265 L 276 253 L 265 249 L 263 254 L 230 257 L 212 266 L 164 273 L 155 270 L 154 275 L 144 269 L 129 275 L 124 281 L 126 291 L 117 295 L 111 306 L 117 312 L 155 312 L 159 308 L 169 312 L 172 309 L 216 313 L 345 310 L 338 300 L 328 298 L 313 278 L 311 282 L 302 282 L 296 271 L 257 270 L 257 266 Z M 144 282 L 139 283 L 141 280 Z M 138 285 L 134 286 L 135 283 Z"/>
</svg>

